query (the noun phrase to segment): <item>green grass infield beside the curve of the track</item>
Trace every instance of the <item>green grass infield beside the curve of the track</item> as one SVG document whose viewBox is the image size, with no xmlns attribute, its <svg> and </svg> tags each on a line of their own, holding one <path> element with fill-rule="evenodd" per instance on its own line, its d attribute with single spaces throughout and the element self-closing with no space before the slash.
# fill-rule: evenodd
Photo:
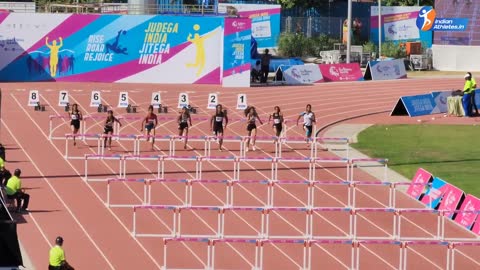
<svg viewBox="0 0 480 270">
<path fill-rule="evenodd" d="M 412 179 L 422 167 L 468 194 L 480 197 L 480 126 L 377 125 L 352 145 Z"/>
</svg>

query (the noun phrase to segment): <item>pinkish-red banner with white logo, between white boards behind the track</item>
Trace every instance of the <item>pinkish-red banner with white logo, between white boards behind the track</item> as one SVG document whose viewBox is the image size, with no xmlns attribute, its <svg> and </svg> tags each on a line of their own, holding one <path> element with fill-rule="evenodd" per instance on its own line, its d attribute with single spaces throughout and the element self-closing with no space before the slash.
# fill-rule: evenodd
<svg viewBox="0 0 480 270">
<path fill-rule="evenodd" d="M 362 70 L 358 63 L 322 64 L 319 66 L 326 82 L 359 81 L 363 79 Z"/>
</svg>

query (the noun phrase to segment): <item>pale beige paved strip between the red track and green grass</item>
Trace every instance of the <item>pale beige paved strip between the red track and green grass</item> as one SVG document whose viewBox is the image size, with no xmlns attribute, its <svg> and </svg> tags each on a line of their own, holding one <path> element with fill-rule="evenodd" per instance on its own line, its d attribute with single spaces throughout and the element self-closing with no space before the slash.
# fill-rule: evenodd
<svg viewBox="0 0 480 270">
<path fill-rule="evenodd" d="M 337 137 L 337 138 L 349 138 L 350 143 L 356 143 L 357 142 L 357 135 L 363 131 L 364 129 L 372 126 L 371 124 L 340 124 L 333 126 L 329 128 L 324 136 L 325 137 Z M 342 150 L 332 150 L 332 153 L 335 155 L 346 158 L 347 153 L 346 151 Z M 367 155 L 361 153 L 360 151 L 357 151 L 354 148 L 350 148 L 350 153 L 349 153 L 350 158 L 369 158 Z M 385 157 L 387 158 L 387 157 Z M 378 164 L 380 165 L 380 164 Z M 361 169 L 368 174 L 372 175 L 376 179 L 379 179 L 381 181 L 384 181 L 384 168 L 383 167 L 361 167 Z M 410 182 L 410 179 L 400 175 L 399 173 L 387 169 L 387 179 L 385 181 L 388 182 Z M 407 186 L 399 186 L 398 190 L 401 191 L 406 191 Z"/>
</svg>

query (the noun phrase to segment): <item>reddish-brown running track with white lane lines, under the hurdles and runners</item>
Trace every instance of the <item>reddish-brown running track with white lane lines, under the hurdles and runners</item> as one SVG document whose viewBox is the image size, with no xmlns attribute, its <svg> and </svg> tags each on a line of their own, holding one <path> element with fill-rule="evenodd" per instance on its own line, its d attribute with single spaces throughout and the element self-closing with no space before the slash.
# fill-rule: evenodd
<svg viewBox="0 0 480 270">
<path fill-rule="evenodd" d="M 390 110 L 398 97 L 416 93 L 425 93 L 432 90 L 457 89 L 463 84 L 461 79 L 415 79 L 387 82 L 354 82 L 330 83 L 308 87 L 266 87 L 242 89 L 248 96 L 250 105 L 256 106 L 262 118 L 268 117 L 273 106 L 279 105 L 286 118 L 295 118 L 305 107 L 306 103 L 313 105 L 317 114 L 317 127 L 336 122 L 348 117 L 359 116 L 371 112 Z M 43 268 L 47 263 L 48 249 L 57 235 L 66 239 L 65 248 L 68 260 L 77 269 L 157 269 L 163 264 L 162 241 L 159 238 L 133 238 L 130 234 L 132 226 L 131 209 L 109 209 L 105 207 L 105 183 L 86 184 L 80 178 L 83 174 L 83 162 L 78 160 L 65 160 L 62 157 L 62 141 L 50 142 L 48 140 L 48 116 L 50 114 L 63 114 L 63 108 L 57 106 L 58 90 L 67 89 L 70 92 L 71 103 L 80 104 L 84 114 L 96 114 L 95 108 L 88 107 L 90 90 L 101 89 L 103 103 L 116 107 L 118 91 L 128 90 L 130 102 L 140 106 L 137 115 L 143 116 L 146 105 L 149 103 L 152 91 L 162 92 L 163 103 L 176 107 L 180 91 L 192 91 L 190 103 L 199 107 L 199 116 L 210 114 L 206 108 L 207 94 L 219 92 L 220 103 L 229 110 L 229 117 L 241 118 L 241 111 L 235 110 L 235 89 L 222 89 L 216 86 L 187 86 L 187 85 L 148 85 L 148 84 L 87 84 L 87 83 L 35 83 L 35 84 L 3 84 L 3 115 L 2 115 L 2 142 L 7 145 L 7 164 L 10 170 L 19 167 L 23 171 L 24 186 L 32 196 L 28 215 L 18 216 L 23 221 L 18 228 L 20 241 L 25 245 L 28 255 L 37 268 Z M 28 90 L 39 89 L 42 102 L 47 104 L 47 112 L 34 112 L 33 108 L 26 107 Z M 116 90 L 116 91 L 115 91 Z M 111 92 L 109 92 L 111 91 Z M 124 114 L 124 109 L 115 109 L 116 115 Z M 159 115 L 163 116 L 163 115 Z M 169 116 L 176 113 L 169 112 Z M 417 119 L 408 117 L 388 117 L 388 113 L 351 120 L 357 123 L 417 123 Z M 433 122 L 430 117 L 424 117 L 427 122 Z M 434 123 L 449 124 L 475 124 L 476 119 L 442 118 Z M 207 122 L 194 122 L 190 135 L 209 135 Z M 157 134 L 175 134 L 176 123 L 161 122 Z M 102 123 L 89 123 L 87 133 L 100 133 Z M 139 122 L 124 122 L 121 134 L 138 134 Z M 288 126 L 289 136 L 302 136 L 300 127 Z M 56 129 L 56 134 L 68 133 L 68 126 L 61 125 Z M 245 135 L 244 122 L 232 122 L 226 135 Z M 259 135 L 271 135 L 269 125 L 259 128 Z M 125 153 L 131 149 L 128 142 L 113 142 L 113 153 Z M 160 148 L 165 149 L 165 146 Z M 179 144 L 180 145 L 180 144 Z M 195 149 L 178 151 L 179 155 L 200 155 L 201 146 L 191 144 Z M 271 145 L 258 145 L 261 150 L 248 153 L 249 156 L 272 156 Z M 212 155 L 234 155 L 238 153 L 237 144 L 225 143 L 225 147 L 233 152 L 216 152 Z M 304 157 L 309 150 L 304 145 L 296 145 L 295 149 L 288 149 L 284 156 Z M 143 144 L 142 149 L 148 149 Z M 80 143 L 77 154 L 91 153 L 91 149 Z M 164 152 L 161 152 L 165 154 Z M 321 153 L 322 156 L 331 156 Z M 388 158 L 388 157 L 386 157 Z M 117 172 L 113 162 L 97 162 L 91 167 L 89 173 L 96 173 L 97 178 L 107 178 Z M 129 177 L 153 178 L 153 171 L 148 162 L 129 165 Z M 167 178 L 192 178 L 193 165 L 188 163 L 171 162 L 167 165 Z M 307 170 L 302 164 L 282 164 L 279 179 L 306 179 Z M 270 164 L 252 163 L 242 167 L 241 179 L 267 179 L 270 173 Z M 228 179 L 232 176 L 231 165 L 215 163 L 204 167 L 204 179 Z M 372 180 L 371 176 L 357 173 L 361 180 Z M 344 169 L 337 166 L 325 166 L 317 171 L 317 179 L 338 180 L 345 178 Z M 158 197 L 157 203 L 180 204 L 183 187 L 169 186 L 169 191 L 164 191 Z M 140 188 L 132 185 L 119 185 L 115 194 L 128 200 L 139 200 Z M 163 189 L 165 190 L 165 189 Z M 196 189 L 194 194 L 195 204 L 198 205 L 223 205 L 223 186 L 204 185 Z M 156 191 L 157 194 L 159 190 Z M 118 198 L 117 197 L 117 198 Z M 346 194 L 335 187 L 318 188 L 316 197 L 318 206 L 338 206 L 346 204 Z M 302 206 L 306 200 L 303 189 L 296 186 L 287 186 L 276 193 L 276 204 L 281 206 Z M 264 190 L 254 186 L 245 185 L 236 189 L 236 204 L 262 205 L 265 199 Z M 161 202 L 160 202 L 161 201 Z M 140 201 L 138 201 L 140 203 Z M 365 187 L 357 193 L 357 207 L 386 207 L 386 189 L 381 187 Z M 398 207 L 421 207 L 417 202 L 403 194 L 397 198 Z M 328 215 L 327 215 L 328 214 Z M 162 220 L 167 220 L 162 213 L 145 215 L 140 225 L 144 229 L 166 228 Z M 342 217 L 335 214 L 319 214 L 321 233 L 341 235 L 345 232 L 345 222 Z M 209 231 L 209 226 L 215 224 L 213 217 L 202 213 L 185 215 L 190 226 L 184 227 L 189 232 Z M 246 213 L 236 213 L 227 230 L 232 233 L 255 233 L 255 217 Z M 391 218 L 388 215 L 362 215 L 359 219 L 359 233 L 362 235 L 384 236 L 391 234 Z M 402 228 L 411 232 L 411 235 L 431 236 L 431 223 L 435 220 L 430 216 L 411 216 Z M 291 214 L 275 215 L 275 232 L 279 234 L 298 234 L 303 228 L 303 218 Z M 167 223 L 167 222 L 165 222 Z M 153 226 L 152 226 L 153 225 Z M 447 224 L 447 234 L 459 237 L 468 237 L 470 234 L 459 229 L 456 225 Z M 216 267 L 229 269 L 247 269 L 252 267 L 253 254 L 251 248 L 243 245 L 231 245 L 218 250 Z M 385 247 L 381 245 L 368 246 L 362 252 L 361 267 L 375 269 L 395 269 L 398 265 L 398 247 Z M 444 253 L 438 247 L 413 247 L 409 253 L 409 268 L 415 265 L 421 269 L 442 269 L 445 265 Z M 342 246 L 318 247 L 315 249 L 317 256 L 313 260 L 313 268 L 326 266 L 327 269 L 345 269 L 349 262 L 348 248 Z M 480 253 L 473 248 L 462 249 L 462 256 L 456 258 L 456 266 L 465 269 L 480 267 Z M 204 246 L 177 245 L 176 251 L 170 253 L 169 265 L 175 267 L 201 268 L 205 263 Z M 301 263 L 301 249 L 294 246 L 273 245 L 265 254 L 266 269 L 298 269 Z M 467 268 L 468 267 L 468 268 Z"/>
</svg>

